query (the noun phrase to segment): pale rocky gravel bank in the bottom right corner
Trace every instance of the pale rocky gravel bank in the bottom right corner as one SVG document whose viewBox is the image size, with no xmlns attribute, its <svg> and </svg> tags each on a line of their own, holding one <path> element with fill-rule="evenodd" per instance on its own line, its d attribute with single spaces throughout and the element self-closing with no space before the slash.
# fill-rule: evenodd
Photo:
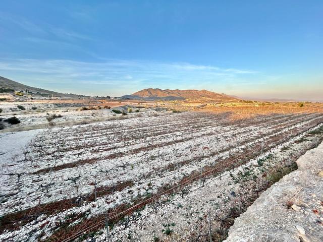
<svg viewBox="0 0 323 242">
<path fill-rule="evenodd" d="M 323 241 L 323 143 L 236 219 L 226 242 Z"/>
</svg>

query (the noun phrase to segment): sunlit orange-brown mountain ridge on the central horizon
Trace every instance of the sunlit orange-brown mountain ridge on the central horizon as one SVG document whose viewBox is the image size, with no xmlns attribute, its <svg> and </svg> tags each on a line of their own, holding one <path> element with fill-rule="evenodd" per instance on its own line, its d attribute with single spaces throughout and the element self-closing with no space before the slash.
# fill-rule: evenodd
<svg viewBox="0 0 323 242">
<path fill-rule="evenodd" d="M 131 95 L 122 96 L 123 99 L 143 99 L 143 100 L 184 100 L 184 99 L 196 99 L 196 98 L 208 98 L 222 101 L 237 101 L 238 98 L 219 94 L 216 92 L 210 92 L 207 90 L 161 90 L 159 88 L 147 88 L 141 91 L 135 92 Z"/>
</svg>

